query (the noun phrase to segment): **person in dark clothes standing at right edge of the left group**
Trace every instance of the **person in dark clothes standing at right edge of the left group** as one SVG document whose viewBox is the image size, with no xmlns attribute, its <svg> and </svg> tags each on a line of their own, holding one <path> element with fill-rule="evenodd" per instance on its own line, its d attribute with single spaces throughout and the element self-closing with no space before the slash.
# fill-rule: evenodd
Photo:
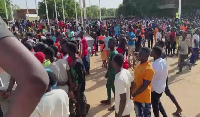
<svg viewBox="0 0 200 117">
<path fill-rule="evenodd" d="M 70 94 L 73 93 L 76 100 L 77 117 L 86 117 L 87 112 L 90 108 L 86 102 L 85 97 L 85 70 L 83 62 L 80 58 L 76 57 L 78 51 L 77 45 L 74 43 L 68 43 L 66 45 L 67 53 L 72 58 L 70 65 L 71 83 L 70 83 Z M 72 114 L 72 113 L 71 113 Z"/>
</svg>

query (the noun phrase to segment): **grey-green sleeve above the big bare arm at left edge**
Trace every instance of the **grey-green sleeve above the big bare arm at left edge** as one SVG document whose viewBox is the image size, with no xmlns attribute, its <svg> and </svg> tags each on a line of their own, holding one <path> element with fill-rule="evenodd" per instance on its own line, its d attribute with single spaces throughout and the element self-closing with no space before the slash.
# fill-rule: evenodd
<svg viewBox="0 0 200 117">
<path fill-rule="evenodd" d="M 0 18 L 0 39 L 5 37 L 14 37 L 14 35 L 8 29 L 8 25 Z"/>
</svg>

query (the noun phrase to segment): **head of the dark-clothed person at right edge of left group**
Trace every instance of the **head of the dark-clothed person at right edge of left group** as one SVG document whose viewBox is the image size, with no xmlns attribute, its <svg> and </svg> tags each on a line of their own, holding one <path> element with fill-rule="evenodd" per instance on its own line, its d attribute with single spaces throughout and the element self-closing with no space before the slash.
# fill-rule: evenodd
<svg viewBox="0 0 200 117">
<path fill-rule="evenodd" d="M 77 51 L 78 51 L 77 45 L 74 44 L 74 43 L 69 42 L 69 43 L 66 45 L 66 51 L 67 51 L 67 53 L 69 54 L 69 56 L 75 57 L 75 55 L 76 55 L 76 53 L 77 53 Z"/>
</svg>

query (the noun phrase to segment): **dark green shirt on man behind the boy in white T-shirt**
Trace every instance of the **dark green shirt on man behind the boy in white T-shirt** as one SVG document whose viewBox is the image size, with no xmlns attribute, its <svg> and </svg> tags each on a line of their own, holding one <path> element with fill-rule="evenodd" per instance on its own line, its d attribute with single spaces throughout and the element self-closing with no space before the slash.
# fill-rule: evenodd
<svg viewBox="0 0 200 117">
<path fill-rule="evenodd" d="M 118 52 L 116 50 L 110 51 L 110 53 L 109 53 L 109 63 L 108 64 L 109 64 L 110 68 L 108 70 L 108 78 L 115 78 L 115 70 L 112 67 L 111 61 L 116 54 L 118 54 Z"/>
</svg>

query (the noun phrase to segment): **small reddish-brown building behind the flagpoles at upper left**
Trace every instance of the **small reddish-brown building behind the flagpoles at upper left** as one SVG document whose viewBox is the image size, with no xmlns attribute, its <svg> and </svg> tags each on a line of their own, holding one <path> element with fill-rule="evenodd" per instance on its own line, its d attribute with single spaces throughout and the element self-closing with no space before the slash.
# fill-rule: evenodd
<svg viewBox="0 0 200 117">
<path fill-rule="evenodd" d="M 36 9 L 28 9 L 29 14 L 36 14 Z M 27 9 L 18 9 L 14 14 L 15 20 L 26 19 Z"/>
</svg>

